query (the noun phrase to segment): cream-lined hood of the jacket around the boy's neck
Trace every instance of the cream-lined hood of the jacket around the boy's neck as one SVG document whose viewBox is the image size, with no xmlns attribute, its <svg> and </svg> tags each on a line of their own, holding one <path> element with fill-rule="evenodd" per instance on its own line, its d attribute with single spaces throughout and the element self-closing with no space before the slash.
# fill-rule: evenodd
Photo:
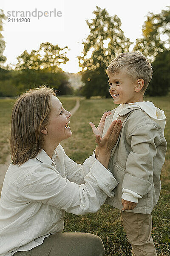
<svg viewBox="0 0 170 256">
<path fill-rule="evenodd" d="M 127 113 L 129 113 L 130 111 L 132 111 L 132 109 L 136 109 L 136 108 L 140 108 L 142 109 L 153 121 L 155 121 L 158 125 L 160 125 L 163 133 L 164 133 L 164 128 L 165 128 L 165 124 L 166 124 L 166 116 L 164 114 L 164 111 L 157 108 L 153 102 L 134 102 L 134 103 L 124 103 L 124 104 L 120 104 L 119 107 L 120 111 L 119 116 L 123 116 Z"/>
</svg>

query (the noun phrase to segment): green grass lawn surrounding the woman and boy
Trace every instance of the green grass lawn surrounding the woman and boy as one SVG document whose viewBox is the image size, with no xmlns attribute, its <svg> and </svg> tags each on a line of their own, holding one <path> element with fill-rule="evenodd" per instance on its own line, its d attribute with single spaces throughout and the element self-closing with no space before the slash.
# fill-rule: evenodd
<svg viewBox="0 0 170 256">
<path fill-rule="evenodd" d="M 74 98 L 61 97 L 63 107 L 67 110 L 75 105 Z M 170 97 L 145 97 L 145 101 L 153 103 L 164 110 L 167 116 L 165 137 L 167 143 L 170 142 Z M 11 106 L 14 100 L 0 100 L 0 157 L 1 161 L 9 153 L 9 123 Z M 80 102 L 79 110 L 71 117 L 72 137 L 63 141 L 61 144 L 66 154 L 77 163 L 83 161 L 92 154 L 95 148 L 95 137 L 92 134 L 89 122 L 98 124 L 102 113 L 116 108 L 112 99 L 89 99 Z M 3 131 L 3 132 L 2 132 Z M 161 195 L 159 202 L 153 210 L 153 231 L 152 236 L 156 244 L 158 256 L 170 255 L 168 245 L 170 243 L 170 148 L 167 148 L 166 160 L 161 173 Z M 103 205 L 101 209 L 88 215 L 65 215 L 65 232 L 88 232 L 101 237 L 106 249 L 106 256 L 130 256 L 130 244 L 127 242 L 126 233 L 120 224 L 119 210 L 109 205 Z"/>
</svg>

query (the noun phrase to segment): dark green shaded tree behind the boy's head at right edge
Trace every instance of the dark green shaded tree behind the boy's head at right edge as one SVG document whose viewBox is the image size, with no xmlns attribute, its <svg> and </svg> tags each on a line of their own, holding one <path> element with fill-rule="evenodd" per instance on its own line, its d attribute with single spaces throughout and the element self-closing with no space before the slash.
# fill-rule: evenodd
<svg viewBox="0 0 170 256">
<path fill-rule="evenodd" d="M 158 52 L 152 67 L 153 78 L 146 94 L 149 96 L 166 96 L 170 91 L 170 51 Z"/>
</svg>

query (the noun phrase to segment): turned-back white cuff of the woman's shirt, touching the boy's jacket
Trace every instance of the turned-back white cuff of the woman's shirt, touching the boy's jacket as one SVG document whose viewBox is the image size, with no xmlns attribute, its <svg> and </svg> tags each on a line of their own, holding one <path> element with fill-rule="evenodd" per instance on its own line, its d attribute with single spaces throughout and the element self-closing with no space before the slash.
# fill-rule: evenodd
<svg viewBox="0 0 170 256">
<path fill-rule="evenodd" d="M 95 177 L 97 185 L 102 189 L 109 197 L 114 196 L 112 190 L 119 183 L 113 174 L 96 159 L 94 164 L 91 166 L 91 174 Z"/>
</svg>

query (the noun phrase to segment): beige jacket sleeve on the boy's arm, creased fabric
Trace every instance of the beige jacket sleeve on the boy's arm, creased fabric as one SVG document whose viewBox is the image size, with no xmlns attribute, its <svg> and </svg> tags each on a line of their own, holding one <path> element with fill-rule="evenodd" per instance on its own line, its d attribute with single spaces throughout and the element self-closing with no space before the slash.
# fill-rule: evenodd
<svg viewBox="0 0 170 256">
<path fill-rule="evenodd" d="M 131 148 L 127 157 L 126 173 L 122 189 L 129 189 L 138 195 L 147 194 L 152 188 L 153 160 L 157 154 L 156 144 L 161 138 L 154 125 L 143 125 L 130 134 Z"/>
</svg>

